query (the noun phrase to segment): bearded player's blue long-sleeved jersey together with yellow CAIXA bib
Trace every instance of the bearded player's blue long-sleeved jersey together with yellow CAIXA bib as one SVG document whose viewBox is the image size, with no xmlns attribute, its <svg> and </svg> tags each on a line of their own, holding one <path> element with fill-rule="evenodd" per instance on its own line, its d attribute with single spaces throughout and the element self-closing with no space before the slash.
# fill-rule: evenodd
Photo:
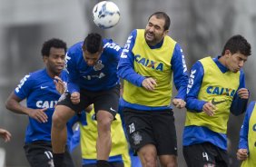
<svg viewBox="0 0 256 167">
<path fill-rule="evenodd" d="M 124 79 L 125 107 L 148 111 L 170 109 L 172 74 L 178 90 L 176 98 L 185 99 L 187 67 L 181 46 L 170 36 L 165 36 L 155 46 L 149 46 L 144 39 L 144 30 L 133 30 L 123 48 L 118 74 Z M 157 82 L 153 92 L 142 86 L 146 77 L 153 77 Z"/>
</svg>

